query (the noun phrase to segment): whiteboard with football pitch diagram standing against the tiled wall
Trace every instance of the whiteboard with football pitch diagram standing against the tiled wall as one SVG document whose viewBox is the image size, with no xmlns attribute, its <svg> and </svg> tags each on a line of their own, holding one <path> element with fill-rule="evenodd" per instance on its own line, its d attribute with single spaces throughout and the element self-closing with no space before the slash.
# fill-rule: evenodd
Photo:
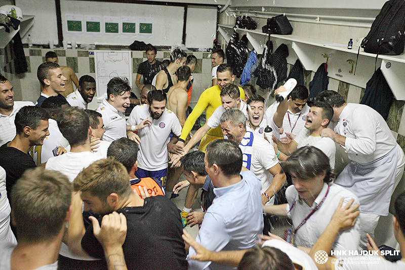
<svg viewBox="0 0 405 270">
<path fill-rule="evenodd" d="M 97 101 L 107 97 L 107 83 L 114 77 L 125 77 L 132 87 L 131 51 L 99 50 L 94 52 L 97 81 Z"/>
</svg>

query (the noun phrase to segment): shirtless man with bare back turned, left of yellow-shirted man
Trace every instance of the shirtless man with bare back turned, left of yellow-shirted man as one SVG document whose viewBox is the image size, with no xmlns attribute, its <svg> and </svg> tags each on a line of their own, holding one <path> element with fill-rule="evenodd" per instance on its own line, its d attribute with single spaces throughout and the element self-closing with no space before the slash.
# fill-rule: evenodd
<svg viewBox="0 0 405 270">
<path fill-rule="evenodd" d="M 191 70 L 188 66 L 183 66 L 177 70 L 176 75 L 177 83 L 169 89 L 166 107 L 177 115 L 180 125 L 183 128 L 184 122 L 186 122 L 188 101 L 187 85 L 191 80 Z"/>
</svg>

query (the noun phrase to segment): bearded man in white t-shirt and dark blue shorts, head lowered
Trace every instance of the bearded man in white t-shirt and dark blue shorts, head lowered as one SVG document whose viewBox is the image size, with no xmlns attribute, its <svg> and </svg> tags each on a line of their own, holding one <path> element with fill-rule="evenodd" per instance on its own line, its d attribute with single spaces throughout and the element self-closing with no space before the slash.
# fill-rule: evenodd
<svg viewBox="0 0 405 270">
<path fill-rule="evenodd" d="M 163 91 L 150 91 L 147 104 L 135 106 L 127 121 L 128 125 L 135 127 L 141 140 L 135 176 L 151 177 L 162 187 L 166 185 L 168 172 L 167 144 L 169 141 L 176 143 L 176 136 L 181 134 L 179 119 L 166 109 L 166 101 L 167 96 Z M 175 135 L 172 138 L 171 133 Z"/>
</svg>

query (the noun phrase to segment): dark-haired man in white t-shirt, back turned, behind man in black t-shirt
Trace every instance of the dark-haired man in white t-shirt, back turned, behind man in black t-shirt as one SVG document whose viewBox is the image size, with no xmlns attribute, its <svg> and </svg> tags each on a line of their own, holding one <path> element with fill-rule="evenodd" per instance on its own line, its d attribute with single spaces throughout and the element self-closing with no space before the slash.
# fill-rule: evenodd
<svg viewBox="0 0 405 270">
<path fill-rule="evenodd" d="M 58 127 L 63 136 L 69 141 L 70 152 L 60 156 L 51 157 L 45 165 L 46 170 L 53 170 L 63 173 L 70 182 L 80 171 L 87 168 L 94 161 L 101 159 L 101 155 L 92 152 L 90 146 L 90 121 L 86 112 L 77 107 L 59 112 L 55 116 Z M 73 254 L 67 245 L 62 243 L 59 252 L 59 264 L 76 265 L 77 268 L 91 268 L 94 265 L 94 258 L 90 256 L 77 256 Z"/>
</svg>

